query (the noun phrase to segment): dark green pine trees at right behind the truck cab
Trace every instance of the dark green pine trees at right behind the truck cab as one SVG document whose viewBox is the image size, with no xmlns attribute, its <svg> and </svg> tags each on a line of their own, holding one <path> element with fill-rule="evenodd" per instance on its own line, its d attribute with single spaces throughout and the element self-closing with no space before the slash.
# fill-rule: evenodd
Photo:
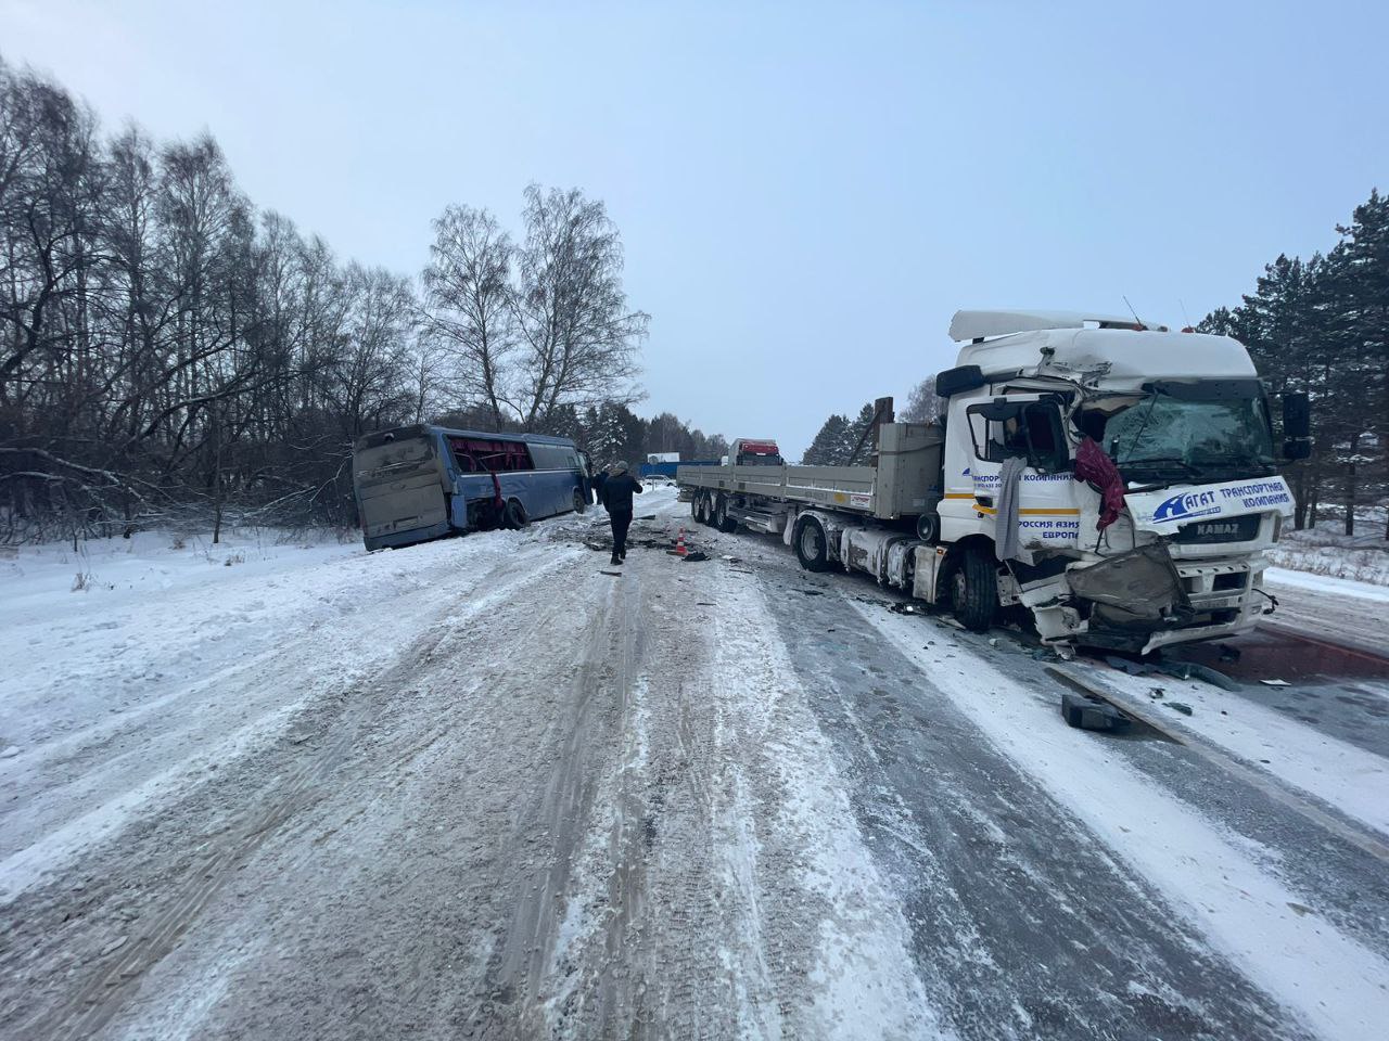
<svg viewBox="0 0 1389 1041">
<path fill-rule="evenodd" d="M 1197 328 L 1249 347 L 1271 391 L 1310 396 L 1313 454 L 1285 466 L 1296 525 L 1333 516 L 1349 536 L 1389 496 L 1389 196 L 1372 190 L 1336 233 L 1308 260 L 1281 254 Z"/>
</svg>

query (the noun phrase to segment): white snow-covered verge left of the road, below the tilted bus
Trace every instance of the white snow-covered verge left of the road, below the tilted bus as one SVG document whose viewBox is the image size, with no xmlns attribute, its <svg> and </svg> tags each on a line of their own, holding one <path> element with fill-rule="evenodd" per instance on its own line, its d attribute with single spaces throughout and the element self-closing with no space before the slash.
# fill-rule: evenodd
<svg viewBox="0 0 1389 1041">
<path fill-rule="evenodd" d="M 76 555 L 21 550 L 7 562 L 21 582 L 0 602 L 0 661 L 26 663 L 0 673 L 0 745 L 18 748 L 0 758 L 0 784 L 15 794 L 0 806 L 0 899 L 383 668 L 419 627 L 418 612 L 392 602 L 440 580 L 465 590 L 460 565 L 478 582 L 488 565 L 524 555 L 519 539 L 494 533 L 392 557 L 260 534 L 215 550 L 175 548 L 156 533 Z M 557 557 L 551 545 L 529 552 L 538 565 Z M 74 573 L 89 576 L 76 591 Z M 504 583 L 471 608 L 497 595 Z M 369 626 L 357 619 L 363 608 L 372 608 Z"/>
</svg>

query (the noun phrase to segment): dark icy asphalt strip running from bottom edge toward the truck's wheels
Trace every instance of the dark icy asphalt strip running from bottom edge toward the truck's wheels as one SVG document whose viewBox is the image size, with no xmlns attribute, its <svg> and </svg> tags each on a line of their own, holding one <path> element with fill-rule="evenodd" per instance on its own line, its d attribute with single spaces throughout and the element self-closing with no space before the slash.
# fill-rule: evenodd
<svg viewBox="0 0 1389 1041">
<path fill-rule="evenodd" d="M 953 630 L 881 607 L 860 618 L 850 601 L 868 583 L 806 575 L 765 540 L 729 541 L 718 548 L 758 561 L 833 740 L 829 759 L 906 908 L 910 958 L 949 1027 L 971 1038 L 1306 1035 L 947 708 L 935 691 L 942 669 L 971 688 L 983 682 Z M 821 595 L 801 595 L 807 587 Z M 939 643 L 945 665 L 918 672 L 883 645 L 870 612 Z"/>
</svg>

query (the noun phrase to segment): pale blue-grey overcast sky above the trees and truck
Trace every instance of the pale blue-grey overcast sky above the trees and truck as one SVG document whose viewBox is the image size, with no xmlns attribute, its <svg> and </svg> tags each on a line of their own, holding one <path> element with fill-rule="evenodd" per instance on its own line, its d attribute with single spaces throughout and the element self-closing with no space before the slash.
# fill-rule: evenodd
<svg viewBox="0 0 1389 1041">
<path fill-rule="evenodd" d="M 449 203 L 583 189 L 638 411 L 796 457 L 951 365 L 960 307 L 1181 323 L 1332 246 L 1389 187 L 1385 8 L 0 0 L 0 54 L 400 272 Z"/>
</svg>

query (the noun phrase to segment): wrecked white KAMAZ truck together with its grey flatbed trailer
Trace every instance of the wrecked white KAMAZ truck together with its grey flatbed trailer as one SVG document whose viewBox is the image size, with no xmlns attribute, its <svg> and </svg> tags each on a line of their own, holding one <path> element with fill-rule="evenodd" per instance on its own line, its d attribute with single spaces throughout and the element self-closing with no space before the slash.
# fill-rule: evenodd
<svg viewBox="0 0 1389 1041">
<path fill-rule="evenodd" d="M 681 468 L 694 516 L 779 533 L 807 569 L 865 570 L 970 629 L 1026 608 L 1050 644 L 1146 652 L 1274 607 L 1264 550 L 1293 497 L 1240 343 L 1021 311 L 961 311 L 950 335 L 940 423 L 879 409 L 861 466 Z M 1282 457 L 1304 458 L 1306 396 L 1282 409 Z"/>
</svg>

